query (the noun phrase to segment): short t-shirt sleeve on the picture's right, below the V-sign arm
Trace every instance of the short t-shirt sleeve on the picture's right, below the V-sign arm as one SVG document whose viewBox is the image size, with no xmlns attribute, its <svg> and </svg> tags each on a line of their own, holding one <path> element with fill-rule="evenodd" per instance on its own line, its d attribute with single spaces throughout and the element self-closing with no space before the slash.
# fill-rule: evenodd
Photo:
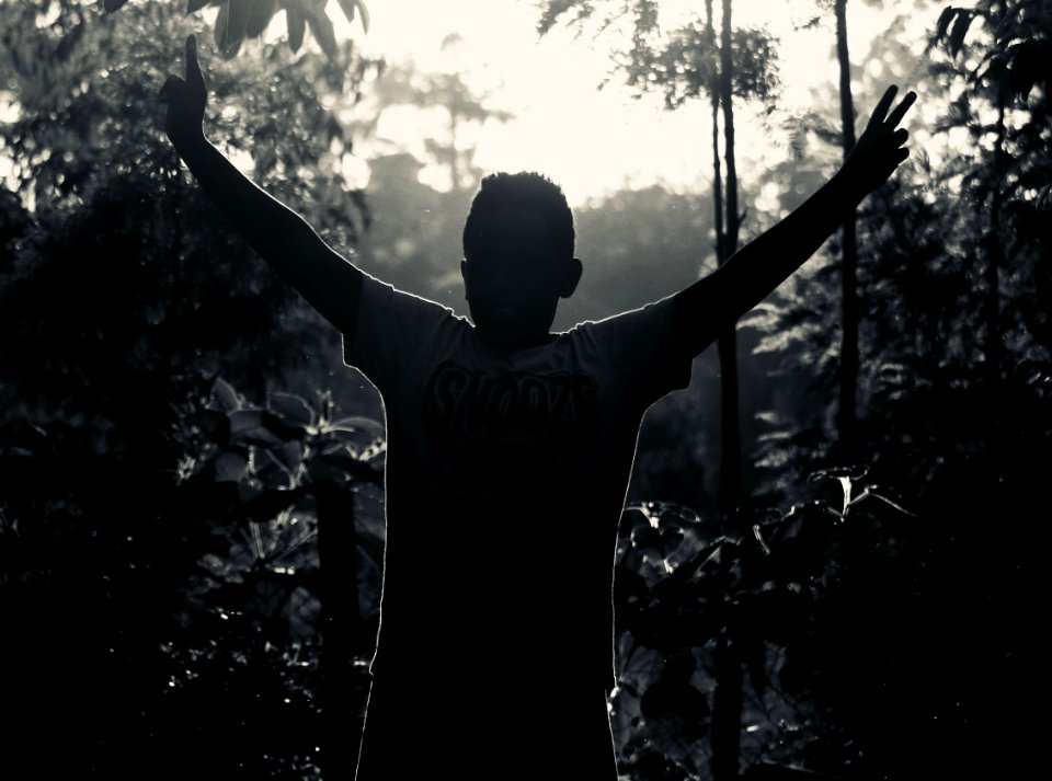
<svg viewBox="0 0 1052 781">
<path fill-rule="evenodd" d="M 611 370 L 622 375 L 642 407 L 690 384 L 694 356 L 677 348 L 672 296 L 590 325 Z"/>
</svg>

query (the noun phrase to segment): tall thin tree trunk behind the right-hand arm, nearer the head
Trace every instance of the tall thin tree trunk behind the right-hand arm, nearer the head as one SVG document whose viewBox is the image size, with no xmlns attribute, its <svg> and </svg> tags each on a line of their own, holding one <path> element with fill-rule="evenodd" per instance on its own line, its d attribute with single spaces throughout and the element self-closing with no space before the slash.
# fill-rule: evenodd
<svg viewBox="0 0 1052 781">
<path fill-rule="evenodd" d="M 727 218 L 721 263 L 737 250 L 737 169 L 734 163 L 733 65 L 731 59 L 731 0 L 723 0 L 723 20 L 720 31 L 720 103 L 723 106 L 723 156 L 727 170 Z M 722 456 L 720 459 L 720 512 L 732 513 L 742 498 L 742 441 L 739 430 L 737 405 L 737 340 L 736 323 L 728 323 L 720 333 L 717 349 L 720 355 L 720 399 Z"/>
</svg>

